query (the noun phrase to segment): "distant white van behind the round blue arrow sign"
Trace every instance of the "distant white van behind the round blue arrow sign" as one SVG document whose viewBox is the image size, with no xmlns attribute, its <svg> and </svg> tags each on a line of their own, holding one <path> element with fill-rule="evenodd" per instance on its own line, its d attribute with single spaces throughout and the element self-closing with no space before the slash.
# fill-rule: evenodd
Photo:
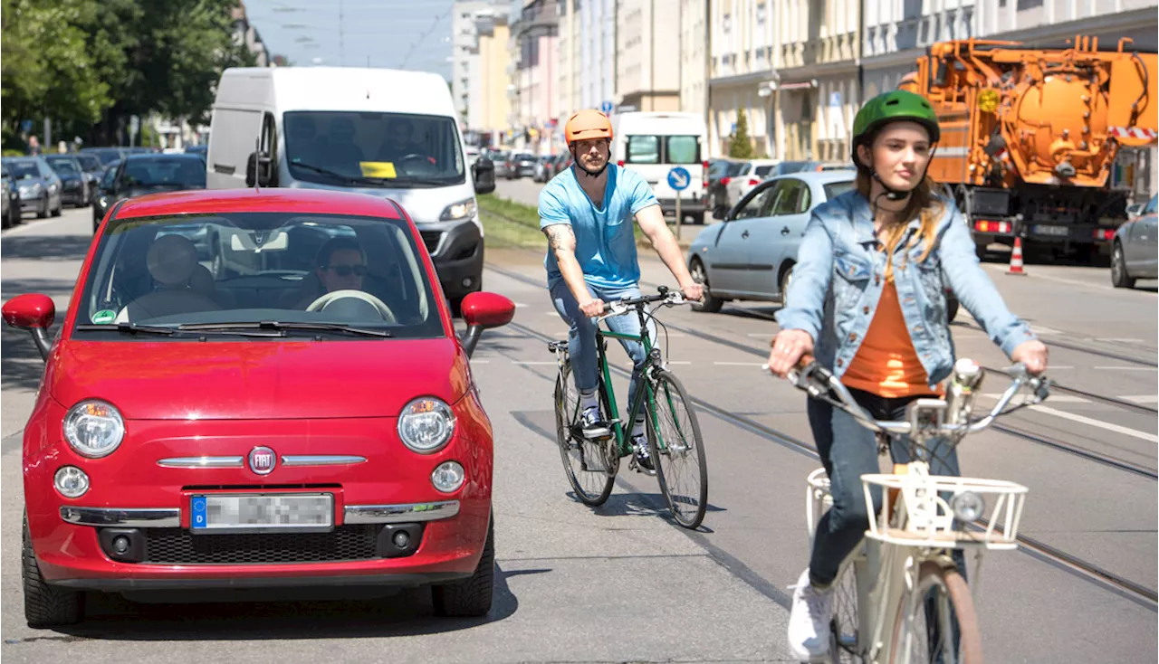
<svg viewBox="0 0 1159 664">
<path fill-rule="evenodd" d="M 680 191 L 680 216 L 705 224 L 708 194 L 708 125 L 694 112 L 633 111 L 612 116 L 612 161 L 639 172 L 653 187 L 665 214 L 676 213 L 676 191 L 668 174 L 688 172 Z"/>
</svg>

